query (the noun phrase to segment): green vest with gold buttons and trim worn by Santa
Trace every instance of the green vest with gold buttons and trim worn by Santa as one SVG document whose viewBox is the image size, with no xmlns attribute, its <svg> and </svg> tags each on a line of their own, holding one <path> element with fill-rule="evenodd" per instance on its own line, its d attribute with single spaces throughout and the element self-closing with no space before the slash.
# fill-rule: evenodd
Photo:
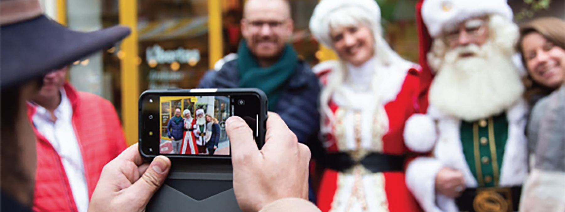
<svg viewBox="0 0 565 212">
<path fill-rule="evenodd" d="M 506 140 L 506 113 L 475 122 L 461 122 L 463 154 L 479 187 L 497 187 Z"/>
</svg>

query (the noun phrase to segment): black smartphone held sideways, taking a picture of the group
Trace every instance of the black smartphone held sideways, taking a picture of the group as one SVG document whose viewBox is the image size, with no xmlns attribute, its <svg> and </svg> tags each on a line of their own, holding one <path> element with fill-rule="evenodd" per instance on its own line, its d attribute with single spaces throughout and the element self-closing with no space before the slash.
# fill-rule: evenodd
<svg viewBox="0 0 565 212">
<path fill-rule="evenodd" d="M 231 158 L 225 131 L 230 116 L 240 116 L 262 148 L 267 97 L 262 90 L 147 90 L 139 99 L 139 150 L 146 158 Z"/>
</svg>

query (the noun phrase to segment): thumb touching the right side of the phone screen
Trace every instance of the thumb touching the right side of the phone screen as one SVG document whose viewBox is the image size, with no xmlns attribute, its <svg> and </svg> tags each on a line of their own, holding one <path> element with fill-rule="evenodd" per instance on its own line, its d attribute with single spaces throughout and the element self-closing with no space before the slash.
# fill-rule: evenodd
<svg viewBox="0 0 565 212">
<path fill-rule="evenodd" d="M 257 144 L 253 140 L 253 131 L 242 118 L 238 116 L 230 117 L 225 122 L 225 132 L 228 133 L 231 143 L 232 160 L 237 161 L 259 153 Z"/>
</svg>

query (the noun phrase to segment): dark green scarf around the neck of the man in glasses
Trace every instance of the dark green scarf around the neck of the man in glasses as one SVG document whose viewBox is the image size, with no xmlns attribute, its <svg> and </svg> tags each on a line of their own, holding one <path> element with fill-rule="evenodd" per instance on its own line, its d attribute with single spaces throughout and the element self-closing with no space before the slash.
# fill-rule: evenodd
<svg viewBox="0 0 565 212">
<path fill-rule="evenodd" d="M 298 57 L 296 51 L 286 44 L 279 61 L 270 67 L 260 67 L 257 58 L 251 54 L 245 40 L 237 50 L 237 71 L 240 88 L 258 88 L 267 94 L 268 110 L 274 110 L 286 81 L 296 70 Z"/>
</svg>

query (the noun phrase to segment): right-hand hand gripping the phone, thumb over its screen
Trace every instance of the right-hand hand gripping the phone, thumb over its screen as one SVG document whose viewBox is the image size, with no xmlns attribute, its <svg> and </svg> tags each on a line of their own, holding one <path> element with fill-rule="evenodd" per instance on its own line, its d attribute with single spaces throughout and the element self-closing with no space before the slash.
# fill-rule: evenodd
<svg viewBox="0 0 565 212">
<path fill-rule="evenodd" d="M 300 144 L 279 115 L 269 113 L 261 150 L 244 119 L 234 116 L 226 127 L 232 141 L 233 189 L 244 212 L 256 212 L 282 198 L 308 197 L 310 149 Z"/>
</svg>

